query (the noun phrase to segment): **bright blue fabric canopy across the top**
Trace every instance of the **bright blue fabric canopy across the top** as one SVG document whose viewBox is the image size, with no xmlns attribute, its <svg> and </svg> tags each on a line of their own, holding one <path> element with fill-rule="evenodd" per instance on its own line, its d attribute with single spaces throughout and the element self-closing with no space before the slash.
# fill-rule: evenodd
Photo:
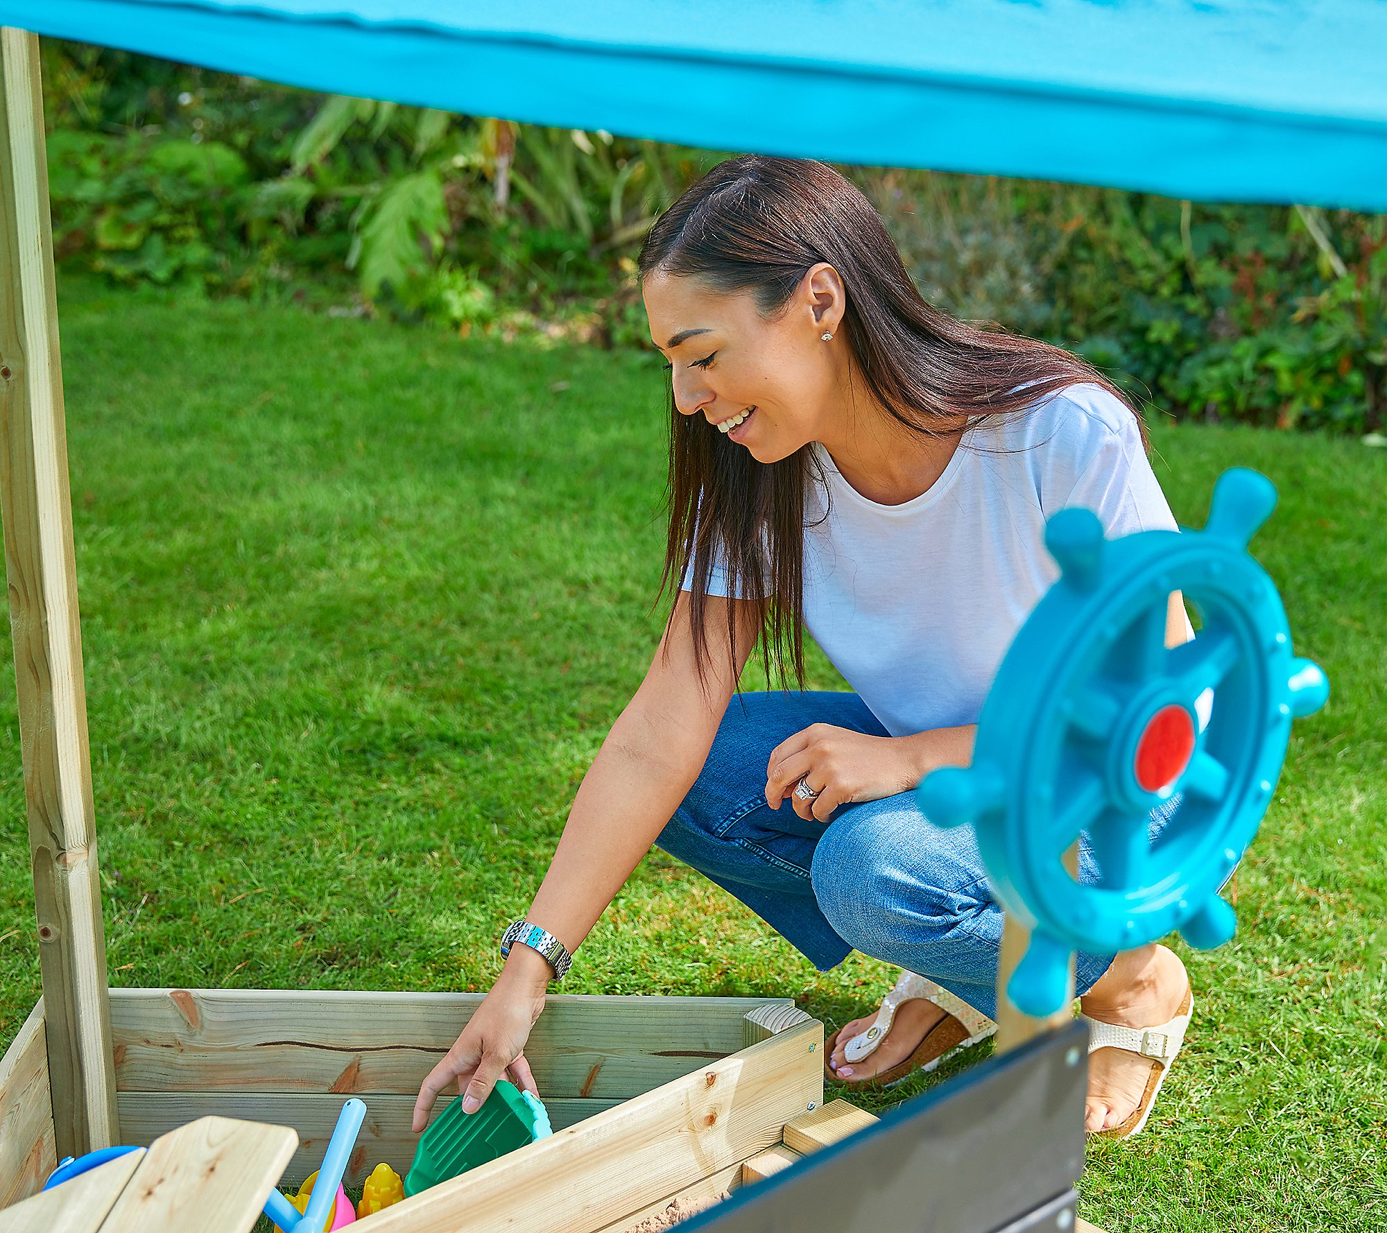
<svg viewBox="0 0 1387 1233">
<path fill-rule="evenodd" d="M 1384 0 L 0 0 L 0 22 L 714 150 L 1387 211 Z"/>
</svg>

